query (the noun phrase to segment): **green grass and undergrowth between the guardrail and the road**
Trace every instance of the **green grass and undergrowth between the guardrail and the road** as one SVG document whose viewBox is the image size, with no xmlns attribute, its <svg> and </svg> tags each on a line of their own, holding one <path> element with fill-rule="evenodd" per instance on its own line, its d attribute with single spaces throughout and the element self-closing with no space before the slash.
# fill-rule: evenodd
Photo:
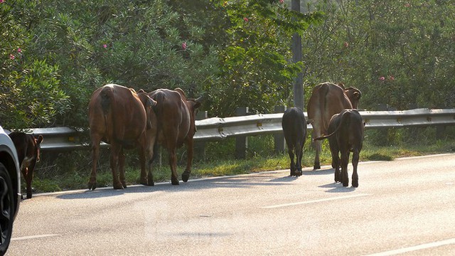
<svg viewBox="0 0 455 256">
<path fill-rule="evenodd" d="M 367 134 L 368 135 L 368 134 Z M 431 134 L 430 134 L 431 135 Z M 396 134 L 394 135 L 396 137 Z M 422 156 L 426 154 L 440 154 L 455 152 L 455 139 L 409 139 L 389 146 L 375 146 L 372 139 L 365 136 L 363 149 L 360 152 L 360 161 L 392 161 L 395 158 L 405 156 Z M 434 138 L 434 137 L 433 137 Z M 312 167 L 314 163 L 314 150 L 307 139 L 304 148 L 304 167 Z M 273 137 L 251 137 L 247 159 L 236 160 L 233 157 L 232 141 L 213 142 L 205 145 L 205 157 L 196 156 L 193 161 L 193 171 L 190 178 L 210 176 L 230 176 L 236 174 L 250 174 L 258 171 L 272 171 L 289 169 L 289 156 L 274 154 Z M 127 156 L 127 184 L 139 183 L 139 161 L 135 151 L 129 151 Z M 41 159 L 45 159 L 42 155 Z M 71 160 L 68 160 L 71 159 Z M 178 176 L 181 177 L 186 164 L 186 151 L 181 149 L 178 154 Z M 112 186 L 112 173 L 109 168 L 109 151 L 102 153 L 99 161 L 97 174 L 97 187 Z M 167 165 L 166 154 L 162 156 L 162 165 L 155 164 L 155 182 L 168 181 L 171 179 L 171 171 Z M 328 142 L 323 143 L 321 152 L 321 165 L 331 164 L 331 153 L 328 150 Z M 90 152 L 78 151 L 69 154 L 60 154 L 53 161 L 38 163 L 38 169 L 33 179 L 34 193 L 65 191 L 87 188 L 90 176 L 91 159 Z M 23 184 L 25 190 L 25 184 Z"/>
</svg>

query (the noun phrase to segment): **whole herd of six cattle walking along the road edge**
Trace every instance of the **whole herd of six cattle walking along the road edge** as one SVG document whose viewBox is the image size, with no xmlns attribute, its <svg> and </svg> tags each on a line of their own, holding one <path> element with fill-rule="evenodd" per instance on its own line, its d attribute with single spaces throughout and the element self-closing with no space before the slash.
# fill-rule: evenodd
<svg viewBox="0 0 455 256">
<path fill-rule="evenodd" d="M 291 107 L 282 117 L 284 139 L 291 159 L 291 176 L 301 176 L 301 158 L 306 139 L 306 125 L 313 126 L 313 142 L 316 146 L 314 169 L 321 169 L 319 153 L 321 140 L 328 138 L 332 154 L 335 181 L 348 186 L 349 154 L 353 152 L 352 186 L 358 186 L 357 165 L 363 143 L 363 119 L 356 110 L 361 93 L 354 87 L 345 88 L 324 82 L 314 87 L 307 106 L 308 120 L 304 112 Z M 158 89 L 153 92 L 122 85 L 104 85 L 93 92 L 89 103 L 90 140 L 92 145 L 92 172 L 88 188 L 97 188 L 97 160 L 100 142 L 110 144 L 110 167 L 114 189 L 127 187 L 124 173 L 123 149 L 139 149 L 141 164 L 140 183 L 154 186 L 153 162 L 159 145 L 168 151 L 171 166 L 171 183 L 178 185 L 176 149 L 186 144 L 188 157 L 182 181 L 188 181 L 193 161 L 193 135 L 196 132 L 196 109 L 201 102 L 189 99 L 183 90 Z M 33 169 L 39 161 L 43 137 L 23 132 L 9 134 L 26 180 L 27 198 L 32 196 Z M 341 154 L 341 159 L 340 159 Z M 295 161 L 294 161 L 295 155 Z M 340 169 L 341 167 L 341 169 Z"/>
</svg>

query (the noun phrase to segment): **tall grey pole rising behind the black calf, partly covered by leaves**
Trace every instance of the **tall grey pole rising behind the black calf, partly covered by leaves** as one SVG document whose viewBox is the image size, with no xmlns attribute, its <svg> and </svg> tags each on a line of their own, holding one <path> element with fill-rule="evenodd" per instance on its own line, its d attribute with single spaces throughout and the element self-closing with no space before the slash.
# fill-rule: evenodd
<svg viewBox="0 0 455 256">
<path fill-rule="evenodd" d="M 291 10 L 300 12 L 300 0 L 291 1 Z M 292 35 L 292 61 L 301 61 L 301 36 L 299 33 Z M 294 79 L 294 107 L 304 110 L 304 73 L 300 72 Z"/>
</svg>

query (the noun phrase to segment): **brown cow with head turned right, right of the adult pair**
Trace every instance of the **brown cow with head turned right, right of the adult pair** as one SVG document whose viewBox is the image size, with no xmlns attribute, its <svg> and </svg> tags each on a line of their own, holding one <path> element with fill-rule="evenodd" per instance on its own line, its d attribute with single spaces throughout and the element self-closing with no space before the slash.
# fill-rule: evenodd
<svg viewBox="0 0 455 256">
<path fill-rule="evenodd" d="M 158 89 L 149 93 L 149 96 L 156 101 L 154 108 L 156 113 L 156 124 L 147 134 L 151 139 L 150 151 L 153 159 L 149 161 L 148 185 L 154 186 L 153 169 L 151 164 L 156 159 L 158 145 L 164 146 L 168 151 L 168 162 L 171 166 L 171 183 L 178 185 L 177 178 L 177 156 L 178 147 L 186 144 L 188 157 L 186 169 L 182 174 L 183 182 L 188 181 L 191 174 L 193 162 L 193 135 L 196 132 L 195 115 L 196 109 L 200 107 L 200 98 L 187 99 L 180 88 L 176 90 Z M 156 129 L 155 129 L 156 127 Z"/>
</svg>

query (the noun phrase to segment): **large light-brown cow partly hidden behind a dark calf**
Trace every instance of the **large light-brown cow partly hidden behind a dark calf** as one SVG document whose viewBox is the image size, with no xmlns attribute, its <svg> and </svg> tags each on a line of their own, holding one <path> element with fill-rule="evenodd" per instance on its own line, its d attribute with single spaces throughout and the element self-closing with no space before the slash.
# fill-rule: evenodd
<svg viewBox="0 0 455 256">
<path fill-rule="evenodd" d="M 306 111 L 308 119 L 313 126 L 311 137 L 321 137 L 327 134 L 328 122 L 333 114 L 338 114 L 341 110 L 358 107 L 360 90 L 354 87 L 344 88 L 343 84 L 335 85 L 331 82 L 323 82 L 316 85 L 309 99 Z M 314 141 L 316 156 L 314 157 L 314 169 L 321 169 L 319 154 L 321 152 L 321 141 Z"/>
</svg>

